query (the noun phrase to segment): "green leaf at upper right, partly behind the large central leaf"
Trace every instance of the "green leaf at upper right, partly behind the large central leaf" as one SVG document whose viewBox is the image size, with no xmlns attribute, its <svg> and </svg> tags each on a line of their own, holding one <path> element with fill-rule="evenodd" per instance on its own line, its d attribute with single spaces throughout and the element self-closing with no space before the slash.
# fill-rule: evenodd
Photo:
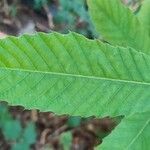
<svg viewBox="0 0 150 150">
<path fill-rule="evenodd" d="M 150 54 L 148 31 L 121 0 L 88 0 L 88 5 L 97 31 L 106 41 Z"/>
</svg>

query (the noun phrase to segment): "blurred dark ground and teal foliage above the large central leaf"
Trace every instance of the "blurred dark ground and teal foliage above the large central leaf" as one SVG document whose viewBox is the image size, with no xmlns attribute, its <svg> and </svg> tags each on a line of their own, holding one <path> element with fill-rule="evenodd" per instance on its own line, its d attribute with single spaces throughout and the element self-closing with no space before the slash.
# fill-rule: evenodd
<svg viewBox="0 0 150 150">
<path fill-rule="evenodd" d="M 75 31 L 96 37 L 86 0 L 2 0 L 0 8 L 0 31 L 9 35 Z"/>
</svg>

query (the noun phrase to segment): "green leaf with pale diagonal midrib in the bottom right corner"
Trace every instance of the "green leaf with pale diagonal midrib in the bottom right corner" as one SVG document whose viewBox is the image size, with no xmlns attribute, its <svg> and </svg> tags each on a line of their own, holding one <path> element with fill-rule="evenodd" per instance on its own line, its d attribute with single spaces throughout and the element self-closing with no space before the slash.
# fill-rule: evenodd
<svg viewBox="0 0 150 150">
<path fill-rule="evenodd" d="M 150 112 L 128 116 L 107 136 L 100 150 L 148 150 L 150 149 Z"/>
</svg>

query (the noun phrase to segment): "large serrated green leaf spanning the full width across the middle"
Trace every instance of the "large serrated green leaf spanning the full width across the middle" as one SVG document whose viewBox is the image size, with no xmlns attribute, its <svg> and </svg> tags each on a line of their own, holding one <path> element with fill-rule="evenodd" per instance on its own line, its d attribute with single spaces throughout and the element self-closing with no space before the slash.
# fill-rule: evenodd
<svg viewBox="0 0 150 150">
<path fill-rule="evenodd" d="M 75 33 L 0 40 L 0 99 L 75 116 L 150 109 L 150 57 Z"/>
</svg>

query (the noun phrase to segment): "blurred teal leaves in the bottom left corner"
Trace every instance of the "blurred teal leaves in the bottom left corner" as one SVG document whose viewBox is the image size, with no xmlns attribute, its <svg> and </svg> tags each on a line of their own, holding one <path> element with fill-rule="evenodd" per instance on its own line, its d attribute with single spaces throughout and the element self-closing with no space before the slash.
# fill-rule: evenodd
<svg viewBox="0 0 150 150">
<path fill-rule="evenodd" d="M 4 104 L 0 104 L 0 128 L 5 140 L 11 143 L 11 150 L 27 150 L 36 141 L 35 125 L 29 122 L 22 127 L 18 119 L 12 118 Z"/>
</svg>

